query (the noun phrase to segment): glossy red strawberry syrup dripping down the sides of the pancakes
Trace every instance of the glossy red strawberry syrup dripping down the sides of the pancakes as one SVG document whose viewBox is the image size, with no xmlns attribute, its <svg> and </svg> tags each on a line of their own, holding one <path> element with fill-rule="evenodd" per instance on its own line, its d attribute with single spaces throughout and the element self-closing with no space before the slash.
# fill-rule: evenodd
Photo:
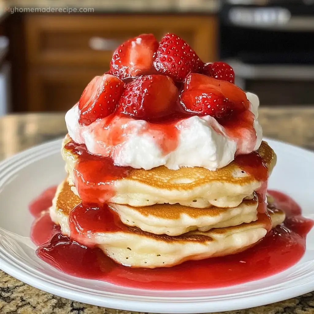
<svg viewBox="0 0 314 314">
<path fill-rule="evenodd" d="M 114 195 L 113 180 L 127 176 L 132 168 L 115 166 L 111 159 L 89 154 L 85 145 L 73 141 L 66 144 L 65 149 L 77 155 L 74 177 L 82 199 L 82 203 L 69 213 L 71 237 L 78 243 L 90 246 L 95 242 L 93 237 L 96 232 L 128 232 L 127 226 L 121 223 L 106 201 Z M 264 182 L 257 192 L 258 219 L 267 231 L 271 230 L 271 219 L 266 211 L 267 166 L 257 152 L 238 155 L 235 162 L 256 180 Z"/>
</svg>

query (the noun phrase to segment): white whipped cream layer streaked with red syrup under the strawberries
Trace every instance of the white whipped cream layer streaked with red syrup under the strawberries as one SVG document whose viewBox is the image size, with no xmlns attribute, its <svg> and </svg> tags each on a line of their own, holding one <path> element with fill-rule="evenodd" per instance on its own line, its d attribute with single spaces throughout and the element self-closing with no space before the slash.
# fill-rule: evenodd
<svg viewBox="0 0 314 314">
<path fill-rule="evenodd" d="M 231 132 L 212 116 L 191 116 L 174 125 L 155 125 L 130 117 L 108 116 L 88 126 L 78 123 L 76 104 L 66 116 L 68 133 L 74 142 L 85 144 L 91 154 L 113 159 L 115 165 L 145 170 L 165 165 L 216 170 L 234 160 L 235 154 L 248 154 L 259 148 L 262 128 L 258 124 L 258 97 L 246 93 L 250 101 L 247 119 L 251 128 Z"/>
</svg>

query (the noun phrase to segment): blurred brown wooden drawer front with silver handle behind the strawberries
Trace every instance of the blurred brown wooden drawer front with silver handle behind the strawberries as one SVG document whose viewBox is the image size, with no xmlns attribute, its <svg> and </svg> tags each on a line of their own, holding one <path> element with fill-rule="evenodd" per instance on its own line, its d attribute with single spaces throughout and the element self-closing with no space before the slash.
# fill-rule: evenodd
<svg viewBox="0 0 314 314">
<path fill-rule="evenodd" d="M 185 15 L 27 15 L 30 64 L 103 65 L 123 41 L 141 33 L 173 32 L 204 61 L 216 59 L 216 17 Z"/>
</svg>

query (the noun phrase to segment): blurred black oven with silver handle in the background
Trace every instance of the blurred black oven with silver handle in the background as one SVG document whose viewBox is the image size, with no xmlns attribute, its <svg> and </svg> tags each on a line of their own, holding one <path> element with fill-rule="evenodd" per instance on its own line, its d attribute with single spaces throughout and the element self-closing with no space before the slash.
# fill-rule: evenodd
<svg viewBox="0 0 314 314">
<path fill-rule="evenodd" d="M 262 104 L 314 104 L 314 0 L 226 0 L 220 59 Z"/>
</svg>

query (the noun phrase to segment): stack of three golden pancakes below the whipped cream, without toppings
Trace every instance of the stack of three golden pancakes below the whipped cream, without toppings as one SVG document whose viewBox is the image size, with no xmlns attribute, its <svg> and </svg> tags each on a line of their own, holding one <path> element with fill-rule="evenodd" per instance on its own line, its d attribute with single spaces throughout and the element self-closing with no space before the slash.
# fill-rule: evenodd
<svg viewBox="0 0 314 314">
<path fill-rule="evenodd" d="M 68 177 L 57 189 L 51 219 L 63 234 L 82 245 L 100 247 L 116 263 L 171 267 L 235 254 L 284 221 L 282 211 L 263 209 L 261 191 L 266 182 L 235 160 L 216 171 L 131 168 L 123 177 L 111 179 L 108 185 L 114 193 L 108 193 L 100 183 L 93 185 L 82 177 L 82 154 L 69 143 L 73 141 L 67 135 L 62 156 Z M 276 155 L 266 142 L 257 153 L 270 175 Z M 89 185 L 88 190 L 82 189 L 82 182 Z M 82 204 L 86 193 L 93 195 L 97 205 L 90 205 L 92 199 L 87 207 Z"/>
</svg>

